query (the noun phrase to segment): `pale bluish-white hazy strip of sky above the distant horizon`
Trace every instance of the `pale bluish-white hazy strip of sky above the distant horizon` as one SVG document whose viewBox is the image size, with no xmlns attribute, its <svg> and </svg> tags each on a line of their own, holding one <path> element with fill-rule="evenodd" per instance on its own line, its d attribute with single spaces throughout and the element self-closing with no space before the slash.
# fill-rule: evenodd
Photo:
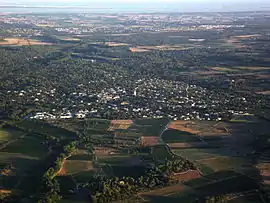
<svg viewBox="0 0 270 203">
<path fill-rule="evenodd" d="M 136 12 L 270 11 L 270 0 L 0 0 L 0 5 L 5 4 L 85 6 Z"/>
</svg>

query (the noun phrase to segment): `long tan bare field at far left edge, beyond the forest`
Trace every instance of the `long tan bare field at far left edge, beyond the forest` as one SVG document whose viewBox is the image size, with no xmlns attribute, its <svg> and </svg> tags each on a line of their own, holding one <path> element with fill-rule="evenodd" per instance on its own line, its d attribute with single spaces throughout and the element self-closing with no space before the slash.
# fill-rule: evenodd
<svg viewBox="0 0 270 203">
<path fill-rule="evenodd" d="M 51 45 L 51 43 L 45 43 L 38 40 L 23 39 L 23 38 L 5 38 L 5 41 L 0 41 L 0 45 L 13 45 L 13 46 L 24 46 L 24 45 Z"/>
</svg>

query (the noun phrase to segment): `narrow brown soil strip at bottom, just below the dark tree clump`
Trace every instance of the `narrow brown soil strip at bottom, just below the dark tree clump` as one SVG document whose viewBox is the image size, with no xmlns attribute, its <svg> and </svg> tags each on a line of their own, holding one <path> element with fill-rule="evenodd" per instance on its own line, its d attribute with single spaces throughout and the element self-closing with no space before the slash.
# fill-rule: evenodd
<svg viewBox="0 0 270 203">
<path fill-rule="evenodd" d="M 185 186 L 178 184 L 173 186 L 168 186 L 156 190 L 151 190 L 149 192 L 139 193 L 140 196 L 169 196 L 176 192 L 180 192 L 185 189 Z"/>
</svg>

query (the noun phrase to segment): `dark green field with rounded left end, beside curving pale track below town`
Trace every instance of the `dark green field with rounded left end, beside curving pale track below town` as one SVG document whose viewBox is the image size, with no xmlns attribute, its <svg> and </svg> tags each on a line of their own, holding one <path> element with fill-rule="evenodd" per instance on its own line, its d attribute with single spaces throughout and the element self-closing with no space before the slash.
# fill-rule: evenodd
<svg viewBox="0 0 270 203">
<path fill-rule="evenodd" d="M 179 130 L 167 130 L 162 135 L 162 139 L 165 143 L 200 142 L 200 139 L 198 139 L 195 135 Z"/>
</svg>

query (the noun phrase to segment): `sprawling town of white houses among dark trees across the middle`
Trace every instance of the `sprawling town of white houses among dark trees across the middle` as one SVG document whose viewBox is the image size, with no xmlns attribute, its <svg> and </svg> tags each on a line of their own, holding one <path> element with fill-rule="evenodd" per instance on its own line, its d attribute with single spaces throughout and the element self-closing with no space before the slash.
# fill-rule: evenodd
<svg viewBox="0 0 270 203">
<path fill-rule="evenodd" d="M 162 79 L 139 79 L 132 85 L 114 85 L 107 88 L 92 88 L 78 85 L 78 92 L 60 94 L 52 90 L 15 91 L 17 99 L 30 99 L 42 106 L 51 103 L 61 108 L 49 111 L 36 110 L 31 119 L 70 118 L 162 118 L 172 120 L 223 120 L 235 114 L 248 112 L 247 98 L 214 92 L 197 85 Z M 14 94 L 8 91 L 8 94 Z M 32 95 L 32 96 L 30 96 Z"/>
</svg>

